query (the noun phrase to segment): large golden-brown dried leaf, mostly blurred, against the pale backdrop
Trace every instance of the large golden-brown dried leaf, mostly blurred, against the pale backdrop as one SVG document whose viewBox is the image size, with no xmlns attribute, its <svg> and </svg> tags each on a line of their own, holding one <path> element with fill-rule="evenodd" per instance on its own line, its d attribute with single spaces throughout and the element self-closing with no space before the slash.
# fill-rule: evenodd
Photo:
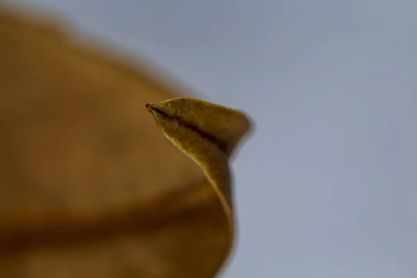
<svg viewBox="0 0 417 278">
<path fill-rule="evenodd" d="M 145 66 L 6 6 L 0 38 L 0 277 L 214 277 L 233 239 L 227 158 L 244 115 L 181 115 L 224 149 L 196 145 L 188 127 L 172 133 L 178 119 L 149 116 L 145 103 L 185 93 Z"/>
</svg>

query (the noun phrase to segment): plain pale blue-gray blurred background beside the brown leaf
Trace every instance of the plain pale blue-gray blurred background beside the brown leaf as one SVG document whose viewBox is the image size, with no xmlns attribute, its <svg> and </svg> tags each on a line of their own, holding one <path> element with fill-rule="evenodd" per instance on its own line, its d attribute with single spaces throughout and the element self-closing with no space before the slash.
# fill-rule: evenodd
<svg viewBox="0 0 417 278">
<path fill-rule="evenodd" d="M 224 277 L 417 277 L 416 1 L 26 2 L 253 117 Z"/>
</svg>

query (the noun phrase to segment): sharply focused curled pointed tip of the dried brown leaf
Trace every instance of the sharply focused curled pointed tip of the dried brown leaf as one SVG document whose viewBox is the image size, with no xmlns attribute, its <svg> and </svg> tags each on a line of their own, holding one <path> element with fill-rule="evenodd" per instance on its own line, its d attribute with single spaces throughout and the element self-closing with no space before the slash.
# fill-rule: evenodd
<svg viewBox="0 0 417 278">
<path fill-rule="evenodd" d="M 227 218 L 229 229 L 224 233 L 230 235 L 231 248 L 234 216 L 228 158 L 250 122 L 243 113 L 199 99 L 179 97 L 146 106 L 172 144 L 202 167 Z"/>
</svg>

